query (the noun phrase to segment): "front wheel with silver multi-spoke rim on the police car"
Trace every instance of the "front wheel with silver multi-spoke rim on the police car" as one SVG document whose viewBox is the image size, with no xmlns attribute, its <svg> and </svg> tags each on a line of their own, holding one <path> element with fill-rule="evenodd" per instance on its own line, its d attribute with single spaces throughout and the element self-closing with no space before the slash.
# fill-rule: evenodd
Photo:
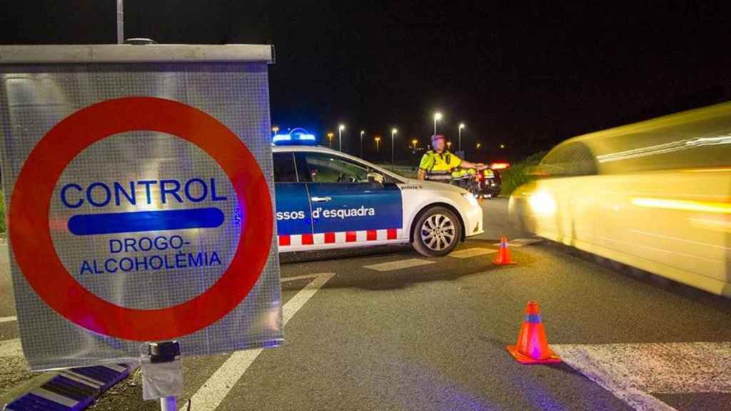
<svg viewBox="0 0 731 411">
<path fill-rule="evenodd" d="M 428 209 L 414 225 L 414 249 L 427 257 L 449 254 L 461 238 L 459 219 L 444 207 Z"/>
</svg>

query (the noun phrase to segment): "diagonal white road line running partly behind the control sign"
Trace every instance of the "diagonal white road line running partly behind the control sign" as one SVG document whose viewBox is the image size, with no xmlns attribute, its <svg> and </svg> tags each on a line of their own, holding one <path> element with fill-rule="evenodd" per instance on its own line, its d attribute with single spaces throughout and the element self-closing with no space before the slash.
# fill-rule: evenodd
<svg viewBox="0 0 731 411">
<path fill-rule="evenodd" d="M 311 283 L 307 284 L 299 293 L 294 297 L 290 298 L 282 309 L 282 322 L 286 325 L 289 320 L 301 309 L 305 303 L 312 298 L 317 290 L 319 290 L 325 283 L 333 278 L 335 274 L 318 274 L 317 278 Z M 193 394 L 192 409 L 196 411 L 213 411 L 216 410 L 221 404 L 221 401 L 226 398 L 231 388 L 238 382 L 238 380 L 249 369 L 251 363 L 262 353 L 262 349 L 247 350 L 234 352 L 219 369 L 214 372 L 208 381 L 202 385 L 202 387 Z M 181 410 L 186 410 L 186 404 L 183 404 Z"/>
</svg>

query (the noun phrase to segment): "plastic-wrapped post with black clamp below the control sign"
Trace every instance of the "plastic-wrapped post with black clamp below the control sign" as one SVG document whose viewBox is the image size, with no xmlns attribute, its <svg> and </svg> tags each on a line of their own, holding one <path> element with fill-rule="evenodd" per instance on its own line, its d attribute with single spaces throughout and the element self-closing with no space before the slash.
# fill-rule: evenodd
<svg viewBox="0 0 731 411">
<path fill-rule="evenodd" d="M 159 399 L 162 411 L 178 411 L 178 395 L 183 391 L 180 343 L 149 343 L 143 350 L 143 399 Z"/>
</svg>

